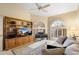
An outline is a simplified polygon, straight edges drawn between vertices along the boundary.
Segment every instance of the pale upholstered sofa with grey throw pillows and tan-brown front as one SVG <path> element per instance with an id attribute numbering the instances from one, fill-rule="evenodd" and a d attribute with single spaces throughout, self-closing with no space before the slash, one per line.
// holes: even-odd
<path id="1" fill-rule="evenodd" d="M 76 40 L 71 37 L 66 38 L 66 40 L 63 37 L 58 38 L 55 41 L 48 40 L 47 45 L 50 45 L 51 47 L 50 48 L 48 47 L 48 49 L 47 48 L 43 49 L 42 52 L 44 55 L 64 55 L 64 54 L 67 55 L 70 54 L 69 52 L 70 50 L 73 50 L 73 48 L 71 47 L 74 44 L 76 44 Z"/>

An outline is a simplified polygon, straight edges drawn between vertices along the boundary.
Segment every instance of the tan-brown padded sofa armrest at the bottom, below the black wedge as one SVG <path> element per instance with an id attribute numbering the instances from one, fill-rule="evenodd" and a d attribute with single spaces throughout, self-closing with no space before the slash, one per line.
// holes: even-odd
<path id="1" fill-rule="evenodd" d="M 43 55 L 63 55 L 65 48 L 43 49 Z"/>

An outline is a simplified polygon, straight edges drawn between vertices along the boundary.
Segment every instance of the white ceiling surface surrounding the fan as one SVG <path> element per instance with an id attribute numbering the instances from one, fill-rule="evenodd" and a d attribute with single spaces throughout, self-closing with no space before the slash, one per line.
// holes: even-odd
<path id="1" fill-rule="evenodd" d="M 38 3 L 41 6 L 44 6 L 48 3 Z M 58 15 L 66 12 L 75 11 L 78 9 L 77 3 L 49 3 L 50 6 L 44 8 L 47 12 L 38 10 L 35 3 L 25 3 L 19 4 L 22 8 L 29 10 L 32 14 L 39 15 L 39 16 L 53 16 Z"/>

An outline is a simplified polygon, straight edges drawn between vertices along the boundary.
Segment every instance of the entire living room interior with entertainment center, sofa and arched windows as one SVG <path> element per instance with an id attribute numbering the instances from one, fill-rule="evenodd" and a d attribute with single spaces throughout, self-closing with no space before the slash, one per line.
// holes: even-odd
<path id="1" fill-rule="evenodd" d="M 0 15 L 0 55 L 79 55 L 78 3 L 0 3 Z"/>

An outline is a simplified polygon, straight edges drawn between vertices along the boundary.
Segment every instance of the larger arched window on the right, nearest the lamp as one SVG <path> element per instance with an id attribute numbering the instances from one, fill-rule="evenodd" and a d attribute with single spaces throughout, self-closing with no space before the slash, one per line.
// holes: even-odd
<path id="1" fill-rule="evenodd" d="M 66 36 L 67 29 L 63 20 L 53 20 L 50 24 L 50 39 Z"/>

